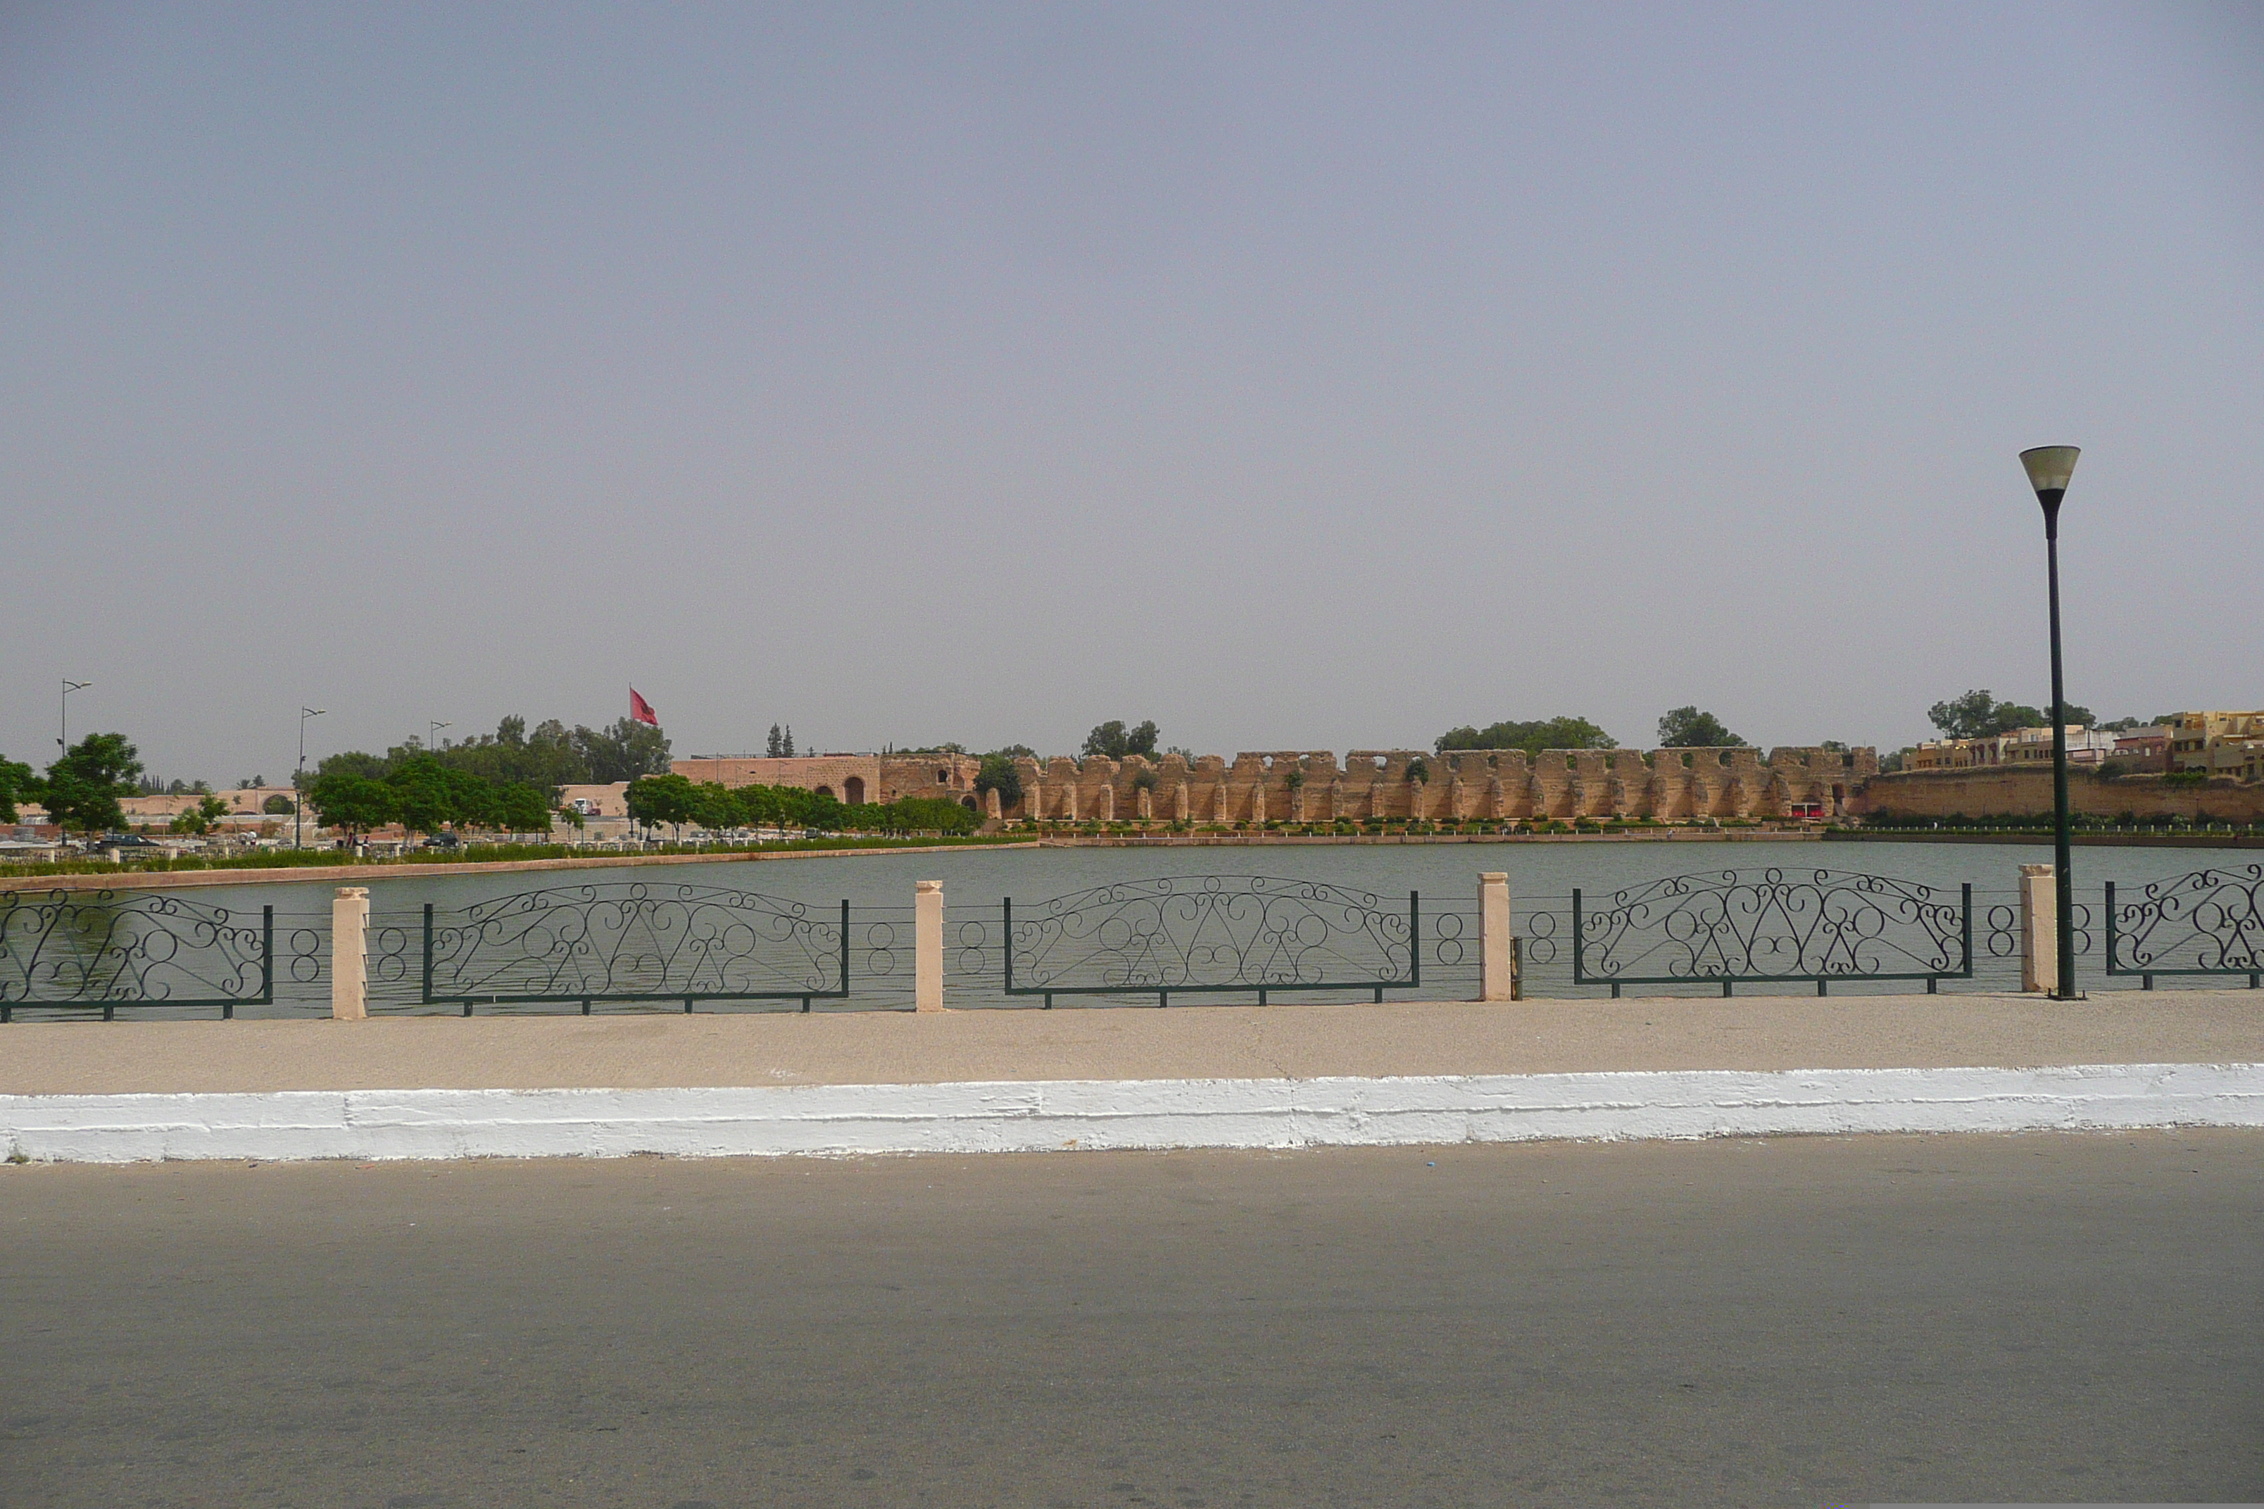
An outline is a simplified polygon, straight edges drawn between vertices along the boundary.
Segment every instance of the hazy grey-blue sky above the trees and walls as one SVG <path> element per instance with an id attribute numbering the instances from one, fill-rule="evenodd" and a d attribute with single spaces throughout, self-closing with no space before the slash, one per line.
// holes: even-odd
<path id="1" fill-rule="evenodd" d="M 2264 7 L 0 7 L 0 753 L 2264 704 Z"/>

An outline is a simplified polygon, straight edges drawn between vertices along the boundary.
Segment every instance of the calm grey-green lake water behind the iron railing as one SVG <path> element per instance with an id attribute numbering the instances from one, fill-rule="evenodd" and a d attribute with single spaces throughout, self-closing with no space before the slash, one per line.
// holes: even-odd
<path id="1" fill-rule="evenodd" d="M 575 887 L 641 885 L 650 896 L 672 896 L 677 887 L 738 889 L 788 898 L 838 919 L 840 903 L 851 907 L 851 1000 L 817 1002 L 815 1009 L 903 1007 L 910 1002 L 910 919 L 912 882 L 944 882 L 944 939 L 949 1004 L 960 1007 L 1028 1007 L 1032 998 L 1007 998 L 1001 991 L 998 952 L 1001 900 L 1012 896 L 1019 919 L 1035 914 L 1039 903 L 1127 880 L 1202 878 L 1202 876 L 1272 876 L 1306 880 L 1349 891 L 1374 894 L 1379 907 L 1406 912 L 1408 891 L 1422 896 L 1424 984 L 1420 991 L 1397 991 L 1408 998 L 1456 998 L 1476 991 L 1476 887 L 1478 873 L 1508 871 L 1517 909 L 1517 932 L 1526 939 L 1528 995 L 1603 995 L 1605 986 L 1576 986 L 1571 975 L 1571 891 L 1578 887 L 1594 914 L 1612 905 L 1621 887 L 1641 887 L 1666 876 L 1718 876 L 1739 871 L 1757 878 L 1777 869 L 1786 880 L 1807 880 L 1818 869 L 1841 873 L 1875 873 L 1897 882 L 1931 887 L 1943 900 L 1956 903 L 1958 887 L 1974 887 L 1974 959 L 1976 977 L 1943 982 L 1945 991 L 2004 991 L 2019 984 L 2017 959 L 2017 878 L 2022 864 L 2051 860 L 2049 844 L 1313 844 L 1313 846 L 1191 846 L 1191 848 L 964 848 L 940 853 L 842 853 L 795 860 L 686 864 L 686 866 L 618 866 L 586 871 L 537 871 L 489 876 L 419 876 L 414 869 L 371 871 L 371 950 L 376 984 L 371 1007 L 378 1011 L 448 1011 L 421 1007 L 417 973 L 421 964 L 421 912 L 426 903 L 444 916 L 475 903 L 491 903 L 534 889 L 573 891 Z M 2076 848 L 2076 900 L 2087 912 L 2078 919 L 2081 984 L 2090 991 L 2135 986 L 2135 980 L 2108 980 L 2103 973 L 2096 925 L 2106 880 L 2137 887 L 2169 880 L 2205 866 L 2255 864 L 2255 851 L 2212 848 Z M 276 907 L 278 1000 L 274 1007 L 245 1007 L 240 1016 L 306 1016 L 328 1009 L 326 932 L 333 885 L 245 885 L 197 887 L 181 891 L 204 907 L 226 907 L 238 919 L 258 919 L 263 905 Z M 1467 948 L 1465 948 L 1467 943 Z M 2241 984 L 2241 982 L 2226 982 Z M 1834 984 L 1834 993 L 1911 991 L 1922 984 Z M 1750 984 L 1739 993 L 1813 993 L 1809 984 Z M 1678 993 L 1637 989 L 1630 993 Z M 1680 993 L 1718 993 L 1718 986 L 1691 986 Z M 1322 1000 L 1322 995 L 1288 993 L 1286 1000 Z M 1347 993 L 1333 993 L 1345 1000 Z M 1060 1004 L 1137 1004 L 1143 998 L 1062 998 Z M 1152 995 L 1146 995 L 1152 1004 Z M 1182 998 L 1193 1000 L 1193 998 Z M 1241 1002 L 1243 995 L 1211 1000 Z M 797 1002 L 763 1002 L 795 1009 Z M 482 1011 L 555 1011 L 559 1007 L 480 1007 Z M 575 1007 L 566 1007 L 575 1009 Z M 607 1009 L 607 1007 L 600 1007 Z M 661 1004 L 611 1009 L 681 1009 Z M 702 1009 L 734 1009 L 715 1002 Z M 20 1011 L 25 1020 L 41 1016 Z M 201 1011 L 199 1016 L 208 1016 Z"/>

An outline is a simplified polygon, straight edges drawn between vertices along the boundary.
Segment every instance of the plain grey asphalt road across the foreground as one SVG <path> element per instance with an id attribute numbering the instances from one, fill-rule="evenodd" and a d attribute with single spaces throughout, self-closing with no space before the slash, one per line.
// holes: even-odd
<path id="1" fill-rule="evenodd" d="M 0 1167 L 0 1502 L 2264 1498 L 2264 1133 Z"/>

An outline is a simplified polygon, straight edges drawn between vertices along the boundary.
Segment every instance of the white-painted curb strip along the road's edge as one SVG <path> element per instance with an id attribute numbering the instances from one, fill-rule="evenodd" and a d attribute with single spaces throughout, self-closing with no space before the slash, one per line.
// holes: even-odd
<path id="1" fill-rule="evenodd" d="M 611 1158 L 2264 1127 L 2264 1063 L 0 1095 L 38 1161 Z"/>

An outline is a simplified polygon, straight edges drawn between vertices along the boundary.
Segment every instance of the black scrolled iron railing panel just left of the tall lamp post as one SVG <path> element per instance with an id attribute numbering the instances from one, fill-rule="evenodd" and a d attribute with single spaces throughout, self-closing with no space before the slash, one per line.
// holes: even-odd
<path id="1" fill-rule="evenodd" d="M 1782 871 L 1671 876 L 1612 891 L 1592 912 L 1571 894 L 1573 984 L 1943 980 L 1974 973 L 1972 885 L 1947 891 L 1886 876 Z"/>

